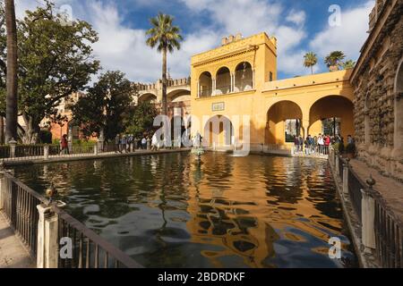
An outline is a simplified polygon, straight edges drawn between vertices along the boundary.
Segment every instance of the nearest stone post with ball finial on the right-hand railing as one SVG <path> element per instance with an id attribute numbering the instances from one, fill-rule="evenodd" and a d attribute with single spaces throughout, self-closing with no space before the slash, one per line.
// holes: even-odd
<path id="1" fill-rule="evenodd" d="M 373 189 L 376 183 L 373 176 L 366 181 L 369 190 Z M 361 189 L 363 198 L 361 200 L 361 217 L 362 217 L 362 238 L 365 253 L 372 253 L 372 249 L 376 248 L 375 240 L 375 200 L 372 197 L 371 191 Z"/>

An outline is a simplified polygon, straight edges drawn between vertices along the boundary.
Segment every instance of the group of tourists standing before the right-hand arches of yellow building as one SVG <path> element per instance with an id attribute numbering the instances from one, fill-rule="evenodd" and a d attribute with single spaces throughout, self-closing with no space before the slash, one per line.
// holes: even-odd
<path id="1" fill-rule="evenodd" d="M 343 142 L 343 138 L 339 135 L 330 137 L 329 135 L 322 135 L 312 137 L 308 135 L 305 139 L 302 136 L 294 138 L 294 146 L 296 154 L 305 155 L 329 155 L 330 145 L 338 142 Z"/>

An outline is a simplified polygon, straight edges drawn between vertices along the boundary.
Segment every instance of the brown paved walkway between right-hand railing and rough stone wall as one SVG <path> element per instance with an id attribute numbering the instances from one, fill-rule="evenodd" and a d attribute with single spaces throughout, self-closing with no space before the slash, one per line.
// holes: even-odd
<path id="1" fill-rule="evenodd" d="M 373 189 L 377 190 L 381 195 L 393 214 L 399 217 L 400 222 L 403 222 L 403 184 L 399 181 L 385 177 L 377 170 L 368 167 L 364 162 L 351 160 L 353 170 L 363 180 L 366 181 L 370 175 L 376 184 Z"/>

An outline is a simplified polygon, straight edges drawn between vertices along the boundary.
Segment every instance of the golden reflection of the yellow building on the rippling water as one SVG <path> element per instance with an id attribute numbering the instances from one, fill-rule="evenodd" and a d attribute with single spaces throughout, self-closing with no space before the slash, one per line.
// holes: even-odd
<path id="1" fill-rule="evenodd" d="M 204 172 L 204 177 L 200 182 L 191 178 L 196 187 L 190 189 L 187 212 L 192 217 L 186 227 L 193 242 L 206 246 L 201 254 L 212 265 L 222 266 L 224 257 L 237 256 L 243 258 L 245 265 L 270 267 L 268 263 L 276 257 L 275 244 L 279 240 L 304 242 L 315 238 L 326 245 L 330 233 L 339 233 L 339 217 L 329 214 L 322 205 L 326 196 L 334 196 L 334 192 L 323 193 L 318 166 L 304 166 L 306 173 L 297 174 L 292 167 L 301 169 L 296 161 L 288 158 L 284 164 L 284 160 L 273 158 L 264 168 L 256 168 L 251 166 L 250 157 L 205 156 L 201 170 L 191 166 L 191 172 Z M 211 168 L 214 164 L 220 168 L 230 164 L 231 169 L 216 176 L 203 170 L 204 165 Z M 256 178 L 246 197 L 245 189 L 240 189 L 244 188 L 245 177 Z M 208 181 L 215 181 L 216 189 L 221 182 L 222 188 L 217 192 Z"/>

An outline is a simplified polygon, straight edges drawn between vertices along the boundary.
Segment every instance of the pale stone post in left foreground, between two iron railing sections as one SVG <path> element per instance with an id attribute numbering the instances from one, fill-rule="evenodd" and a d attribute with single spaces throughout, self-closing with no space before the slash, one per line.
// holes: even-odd
<path id="1" fill-rule="evenodd" d="M 37 268 L 57 268 L 58 216 L 50 206 L 38 205 L 38 254 Z"/>

